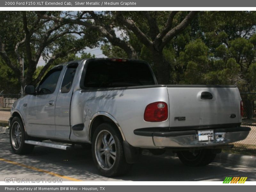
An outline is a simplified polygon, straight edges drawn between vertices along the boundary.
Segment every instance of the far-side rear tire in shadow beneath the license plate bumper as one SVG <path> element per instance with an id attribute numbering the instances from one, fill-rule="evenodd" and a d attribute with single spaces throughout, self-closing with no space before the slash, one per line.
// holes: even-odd
<path id="1" fill-rule="evenodd" d="M 216 154 L 211 149 L 200 149 L 194 152 L 177 151 L 180 161 L 188 166 L 204 166 L 212 163 Z"/>

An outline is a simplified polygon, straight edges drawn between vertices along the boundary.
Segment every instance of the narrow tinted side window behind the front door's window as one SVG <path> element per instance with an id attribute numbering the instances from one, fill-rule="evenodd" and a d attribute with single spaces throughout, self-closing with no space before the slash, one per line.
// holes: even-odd
<path id="1" fill-rule="evenodd" d="M 71 85 L 74 80 L 74 76 L 76 74 L 76 68 L 77 63 L 67 67 L 60 89 L 62 93 L 67 93 L 70 91 Z"/>

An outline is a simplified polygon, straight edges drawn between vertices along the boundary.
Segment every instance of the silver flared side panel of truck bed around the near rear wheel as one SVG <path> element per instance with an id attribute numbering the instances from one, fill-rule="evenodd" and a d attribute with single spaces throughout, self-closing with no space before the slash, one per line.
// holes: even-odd
<path id="1" fill-rule="evenodd" d="M 71 140 L 88 141 L 89 122 L 97 112 L 113 116 L 124 133 L 125 140 L 134 147 L 152 147 L 151 137 L 134 135 L 133 130 L 146 127 L 168 127 L 163 122 L 144 121 L 144 110 L 149 103 L 166 102 L 169 98 L 166 87 L 123 89 L 107 91 L 75 91 L 71 102 L 71 126 L 84 123 L 83 131 L 72 131 Z"/>

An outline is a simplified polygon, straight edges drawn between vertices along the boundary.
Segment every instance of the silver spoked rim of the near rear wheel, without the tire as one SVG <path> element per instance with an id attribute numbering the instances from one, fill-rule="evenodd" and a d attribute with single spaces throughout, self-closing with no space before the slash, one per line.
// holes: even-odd
<path id="1" fill-rule="evenodd" d="M 95 156 L 98 164 L 104 170 L 109 170 L 116 162 L 116 142 L 107 130 L 99 132 L 95 142 Z"/>

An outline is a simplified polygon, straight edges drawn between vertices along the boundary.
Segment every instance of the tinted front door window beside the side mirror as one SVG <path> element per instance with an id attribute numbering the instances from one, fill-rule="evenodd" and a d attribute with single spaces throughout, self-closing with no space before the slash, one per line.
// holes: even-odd
<path id="1" fill-rule="evenodd" d="M 55 91 L 62 68 L 50 70 L 39 84 L 39 94 L 51 94 Z"/>

